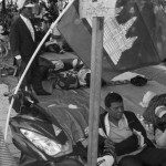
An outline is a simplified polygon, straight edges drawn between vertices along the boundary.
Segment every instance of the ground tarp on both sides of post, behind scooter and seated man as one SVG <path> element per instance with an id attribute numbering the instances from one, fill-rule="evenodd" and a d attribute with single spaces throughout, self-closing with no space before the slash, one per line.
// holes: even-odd
<path id="1" fill-rule="evenodd" d="M 135 86 L 131 83 L 114 86 L 103 86 L 101 90 L 101 113 L 104 111 L 104 98 L 108 92 L 120 93 L 124 98 L 125 110 L 136 114 L 143 114 L 145 108 L 141 106 L 143 96 L 147 91 L 156 94 L 166 93 L 164 85 L 148 81 L 144 86 Z M 53 90 L 50 96 L 38 96 L 40 105 L 62 125 L 69 133 L 73 143 L 84 137 L 84 129 L 89 124 L 90 89 Z"/>

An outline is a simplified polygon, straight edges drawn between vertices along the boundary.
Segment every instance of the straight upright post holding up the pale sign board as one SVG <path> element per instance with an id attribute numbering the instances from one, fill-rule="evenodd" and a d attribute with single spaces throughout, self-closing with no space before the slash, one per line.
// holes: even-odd
<path id="1" fill-rule="evenodd" d="M 91 48 L 91 87 L 89 116 L 87 166 L 96 166 L 98 145 L 98 117 L 101 106 L 101 77 L 103 59 L 104 17 L 94 17 L 92 25 Z"/>

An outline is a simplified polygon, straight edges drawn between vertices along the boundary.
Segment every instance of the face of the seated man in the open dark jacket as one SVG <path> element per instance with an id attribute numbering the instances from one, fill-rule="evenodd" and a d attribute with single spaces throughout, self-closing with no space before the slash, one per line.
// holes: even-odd
<path id="1" fill-rule="evenodd" d="M 114 118 L 115 121 L 120 121 L 122 118 L 124 112 L 123 102 L 114 102 L 111 104 L 111 107 L 107 108 L 108 116 Z"/>

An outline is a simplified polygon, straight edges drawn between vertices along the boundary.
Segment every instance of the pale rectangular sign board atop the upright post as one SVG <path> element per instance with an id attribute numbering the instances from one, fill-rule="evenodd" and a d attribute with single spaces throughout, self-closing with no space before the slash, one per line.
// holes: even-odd
<path id="1" fill-rule="evenodd" d="M 114 17 L 116 0 L 80 0 L 80 17 Z"/>

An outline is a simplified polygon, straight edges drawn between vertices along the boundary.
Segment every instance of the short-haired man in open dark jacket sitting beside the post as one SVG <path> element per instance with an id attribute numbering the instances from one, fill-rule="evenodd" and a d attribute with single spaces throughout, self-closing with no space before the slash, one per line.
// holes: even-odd
<path id="1" fill-rule="evenodd" d="M 110 92 L 105 97 L 106 112 L 100 116 L 100 136 L 110 138 L 118 166 L 165 166 L 166 149 L 156 148 L 146 131 L 131 111 L 124 111 L 123 97 Z"/>

